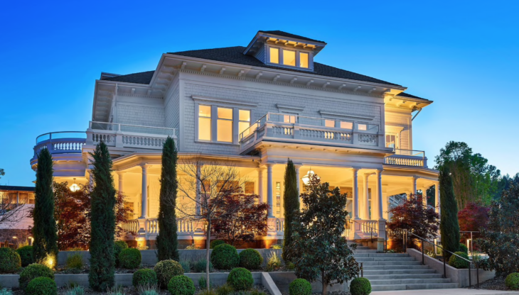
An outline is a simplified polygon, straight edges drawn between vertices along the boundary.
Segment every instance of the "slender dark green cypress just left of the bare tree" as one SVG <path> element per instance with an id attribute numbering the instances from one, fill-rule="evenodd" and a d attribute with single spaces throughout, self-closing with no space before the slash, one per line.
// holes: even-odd
<path id="1" fill-rule="evenodd" d="M 162 149 L 161 194 L 159 196 L 159 235 L 156 245 L 159 261 L 178 261 L 178 241 L 176 237 L 176 147 L 173 138 L 168 137 Z"/>

